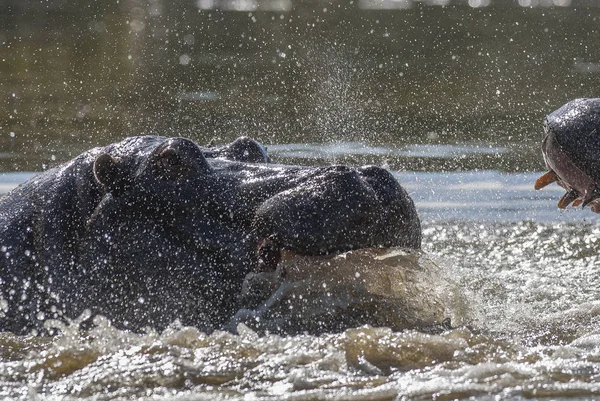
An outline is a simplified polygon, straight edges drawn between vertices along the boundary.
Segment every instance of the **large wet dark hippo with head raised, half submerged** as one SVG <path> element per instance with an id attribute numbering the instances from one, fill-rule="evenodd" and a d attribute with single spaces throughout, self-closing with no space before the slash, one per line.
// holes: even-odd
<path id="1" fill-rule="evenodd" d="M 282 255 L 396 246 L 420 248 L 420 220 L 383 168 L 274 164 L 247 137 L 130 137 L 0 200 L 0 331 L 98 315 L 212 331 L 243 307 L 245 276 Z"/>

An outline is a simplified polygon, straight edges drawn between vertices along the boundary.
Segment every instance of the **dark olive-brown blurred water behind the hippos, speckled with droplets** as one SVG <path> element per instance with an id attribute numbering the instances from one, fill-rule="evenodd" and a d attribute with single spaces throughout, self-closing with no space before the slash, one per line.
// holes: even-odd
<path id="1" fill-rule="evenodd" d="M 544 115 L 600 96 L 599 43 L 595 0 L 0 0 L 0 171 L 140 134 L 538 171 Z"/>

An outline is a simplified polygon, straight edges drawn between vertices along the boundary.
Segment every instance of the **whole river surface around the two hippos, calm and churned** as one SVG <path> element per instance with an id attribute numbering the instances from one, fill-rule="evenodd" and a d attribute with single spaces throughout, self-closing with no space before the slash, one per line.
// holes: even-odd
<path id="1" fill-rule="evenodd" d="M 533 190 L 543 116 L 600 95 L 595 2 L 73 4 L 0 2 L 0 194 L 143 133 L 383 165 L 423 222 L 411 301 L 439 301 L 451 328 L 55 323 L 52 338 L 0 334 L 0 398 L 600 398 L 599 216 Z M 341 266 L 390 268 L 365 257 Z"/>

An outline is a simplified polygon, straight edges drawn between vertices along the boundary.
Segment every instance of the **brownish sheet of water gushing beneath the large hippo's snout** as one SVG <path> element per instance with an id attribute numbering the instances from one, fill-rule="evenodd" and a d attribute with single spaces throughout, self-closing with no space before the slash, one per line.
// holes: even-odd
<path id="1" fill-rule="evenodd" d="M 441 332 L 470 319 L 457 285 L 425 253 L 362 249 L 335 257 L 296 257 L 251 274 L 242 297 L 267 294 L 232 322 L 260 332 L 340 332 L 370 324 Z M 244 304 L 251 302 L 245 301 Z"/>

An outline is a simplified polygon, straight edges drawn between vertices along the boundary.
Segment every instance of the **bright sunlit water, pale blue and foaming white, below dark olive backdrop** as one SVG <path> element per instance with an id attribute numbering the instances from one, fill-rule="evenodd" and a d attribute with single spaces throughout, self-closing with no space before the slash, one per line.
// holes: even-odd
<path id="1" fill-rule="evenodd" d="M 304 145 L 271 150 L 283 162 L 285 152 L 314 162 L 356 153 L 362 145 L 336 146 L 342 150 Z M 469 145 L 429 150 L 449 158 L 480 151 Z M 29 176 L 0 175 L 0 191 Z M 428 276 L 430 288 L 451 288 L 466 301 L 445 305 L 458 316 L 451 330 L 427 334 L 364 326 L 279 336 L 240 325 L 239 335 L 207 335 L 175 324 L 163 333 L 132 334 L 96 319 L 96 327 L 81 333 L 73 322 L 55 338 L 0 335 L 0 397 L 600 397 L 599 219 L 589 210 L 557 210 L 562 191 L 556 186 L 534 191 L 537 176 L 493 170 L 397 173 L 423 220 L 424 255 L 439 268 Z"/>

